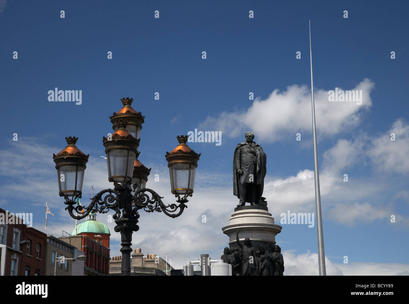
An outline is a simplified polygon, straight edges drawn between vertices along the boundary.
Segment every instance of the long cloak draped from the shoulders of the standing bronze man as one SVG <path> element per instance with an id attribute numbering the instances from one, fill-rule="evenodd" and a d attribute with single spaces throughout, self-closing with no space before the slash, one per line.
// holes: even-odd
<path id="1" fill-rule="evenodd" d="M 257 151 L 256 155 L 256 162 L 257 162 L 257 167 L 256 167 L 256 184 L 260 185 L 260 196 L 263 195 L 263 189 L 264 189 L 264 177 L 265 173 L 267 172 L 266 170 L 266 162 L 267 162 L 267 156 L 265 155 L 263 148 L 256 142 L 253 142 L 254 146 L 253 148 Z M 233 195 L 237 196 L 240 198 L 239 194 L 239 182 L 240 182 L 240 177 L 237 175 L 237 169 L 236 168 L 236 151 L 238 148 L 241 146 L 245 146 L 247 142 L 240 142 L 236 146 L 236 149 L 234 149 L 234 156 L 233 156 Z"/>

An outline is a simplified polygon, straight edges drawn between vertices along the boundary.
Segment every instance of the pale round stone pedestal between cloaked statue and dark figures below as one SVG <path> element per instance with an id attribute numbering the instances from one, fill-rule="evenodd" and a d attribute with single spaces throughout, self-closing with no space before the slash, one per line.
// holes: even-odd
<path id="1" fill-rule="evenodd" d="M 275 236 L 281 232 L 280 225 L 274 224 L 274 218 L 268 212 L 267 206 L 242 206 L 236 207 L 229 219 L 229 225 L 222 228 L 224 234 L 229 236 L 229 247 L 238 247 L 236 244 L 236 232 L 240 243 L 248 237 L 252 242 L 254 250 L 258 250 L 258 245 L 274 247 Z"/>

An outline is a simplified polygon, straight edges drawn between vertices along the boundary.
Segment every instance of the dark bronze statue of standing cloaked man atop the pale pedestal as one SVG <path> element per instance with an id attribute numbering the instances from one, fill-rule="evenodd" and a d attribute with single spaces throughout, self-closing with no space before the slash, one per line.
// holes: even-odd
<path id="1" fill-rule="evenodd" d="M 236 146 L 233 158 L 233 195 L 240 199 L 238 207 L 260 203 L 266 173 L 267 156 L 261 146 L 253 142 L 254 133 L 246 132 L 245 138 L 245 142 Z"/>

